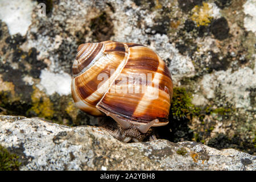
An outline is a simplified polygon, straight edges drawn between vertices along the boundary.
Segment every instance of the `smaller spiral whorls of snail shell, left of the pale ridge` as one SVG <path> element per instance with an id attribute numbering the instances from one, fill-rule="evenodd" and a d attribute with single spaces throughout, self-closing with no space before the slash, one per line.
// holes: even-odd
<path id="1" fill-rule="evenodd" d="M 98 76 L 108 76 L 108 82 L 113 82 L 125 65 L 127 52 L 121 43 L 102 42 L 87 43 L 79 47 L 73 64 L 72 97 L 77 107 L 92 115 L 104 115 L 96 108 L 109 85 L 103 84 Z M 114 74 L 111 74 L 111 69 Z M 108 82 L 107 82 L 108 81 Z"/>

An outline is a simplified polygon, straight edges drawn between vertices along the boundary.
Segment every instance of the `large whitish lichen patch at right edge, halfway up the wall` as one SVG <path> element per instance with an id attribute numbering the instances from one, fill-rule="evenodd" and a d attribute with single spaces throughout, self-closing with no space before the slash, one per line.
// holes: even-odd
<path id="1" fill-rule="evenodd" d="M 232 73 L 218 71 L 205 75 L 201 81 L 201 88 L 206 98 L 215 98 L 216 89 L 227 101 L 236 108 L 252 109 L 250 105 L 250 88 L 256 88 L 256 74 L 251 68 L 245 67 Z M 246 78 L 246 79 L 245 79 Z"/>

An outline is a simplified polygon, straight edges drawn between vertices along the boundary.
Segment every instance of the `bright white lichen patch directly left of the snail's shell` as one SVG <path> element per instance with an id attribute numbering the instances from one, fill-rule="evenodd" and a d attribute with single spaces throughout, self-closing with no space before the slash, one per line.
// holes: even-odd
<path id="1" fill-rule="evenodd" d="M 52 73 L 44 69 L 40 79 L 40 84 L 36 86 L 40 90 L 45 89 L 49 96 L 55 92 L 60 96 L 71 94 L 71 76 L 68 73 Z"/>

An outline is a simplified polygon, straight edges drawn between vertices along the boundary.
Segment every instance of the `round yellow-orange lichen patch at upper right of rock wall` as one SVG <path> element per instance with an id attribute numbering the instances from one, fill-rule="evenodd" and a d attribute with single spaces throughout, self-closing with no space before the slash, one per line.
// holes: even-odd
<path id="1" fill-rule="evenodd" d="M 203 2 L 203 6 L 196 5 L 192 9 L 192 20 L 196 22 L 197 26 L 207 26 L 212 17 L 212 8 L 208 3 Z"/>

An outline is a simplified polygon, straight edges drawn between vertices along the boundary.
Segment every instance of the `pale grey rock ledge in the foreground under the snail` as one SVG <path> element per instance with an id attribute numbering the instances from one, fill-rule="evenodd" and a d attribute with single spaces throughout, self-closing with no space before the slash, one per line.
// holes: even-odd
<path id="1" fill-rule="evenodd" d="M 122 143 L 103 129 L 39 118 L 0 116 L 0 145 L 20 156 L 20 170 L 252 170 L 256 157 L 201 143 Z"/>

